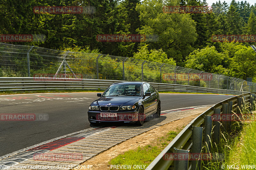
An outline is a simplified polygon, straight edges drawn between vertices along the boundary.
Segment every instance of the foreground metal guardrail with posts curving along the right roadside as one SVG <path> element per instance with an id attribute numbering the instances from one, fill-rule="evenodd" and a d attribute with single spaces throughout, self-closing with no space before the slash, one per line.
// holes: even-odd
<path id="1" fill-rule="evenodd" d="M 201 115 L 191 121 L 166 148 L 151 162 L 146 170 L 201 170 L 201 160 L 189 160 L 188 154 L 202 153 L 202 148 L 209 146 L 206 153 L 211 153 L 211 143 L 218 144 L 220 142 L 220 132 L 228 131 L 231 127 L 231 121 L 216 121 L 216 117 L 232 114 L 240 114 L 241 105 L 250 104 L 252 110 L 253 101 L 255 100 L 254 93 L 246 93 L 236 97 L 229 98 L 217 103 L 213 107 L 206 110 Z M 214 116 L 212 116 L 214 114 Z M 215 119 L 215 121 L 214 121 Z M 212 129 L 213 128 L 213 129 Z M 212 131 L 213 130 L 213 131 Z M 213 132 L 213 133 L 212 133 Z M 175 155 L 176 158 L 181 154 L 185 155 L 186 159 L 175 160 L 170 159 L 170 155 Z M 187 157 L 186 157 L 187 155 Z M 175 158 L 175 156 L 173 156 Z M 184 157 L 183 157 L 184 158 Z"/>

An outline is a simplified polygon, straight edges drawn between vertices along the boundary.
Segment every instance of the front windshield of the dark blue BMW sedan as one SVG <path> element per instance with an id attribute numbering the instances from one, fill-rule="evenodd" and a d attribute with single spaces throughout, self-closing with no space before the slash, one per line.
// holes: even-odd
<path id="1" fill-rule="evenodd" d="M 140 85 L 111 85 L 104 93 L 103 97 L 107 96 L 140 96 Z"/>

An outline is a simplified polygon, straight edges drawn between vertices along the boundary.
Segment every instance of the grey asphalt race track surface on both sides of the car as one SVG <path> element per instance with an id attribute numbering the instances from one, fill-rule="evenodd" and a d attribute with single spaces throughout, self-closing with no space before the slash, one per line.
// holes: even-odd
<path id="1" fill-rule="evenodd" d="M 216 104 L 232 97 L 215 94 L 160 94 L 162 111 Z M 0 156 L 90 128 L 87 111 L 96 93 L 52 93 L 0 96 Z M 31 114 L 10 121 L 6 114 Z"/>

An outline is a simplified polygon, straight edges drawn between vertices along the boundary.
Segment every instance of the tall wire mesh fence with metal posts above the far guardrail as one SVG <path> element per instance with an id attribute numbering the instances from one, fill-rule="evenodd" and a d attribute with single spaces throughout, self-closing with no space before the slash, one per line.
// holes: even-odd
<path id="1" fill-rule="evenodd" d="M 148 81 L 256 91 L 253 82 L 164 63 L 6 43 L 0 43 L 0 77 Z"/>

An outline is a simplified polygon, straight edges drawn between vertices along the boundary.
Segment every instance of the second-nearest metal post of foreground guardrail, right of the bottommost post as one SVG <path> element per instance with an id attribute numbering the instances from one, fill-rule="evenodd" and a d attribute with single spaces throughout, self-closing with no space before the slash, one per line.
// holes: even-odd
<path id="1" fill-rule="evenodd" d="M 203 143 L 203 127 L 193 126 L 193 134 L 192 140 L 193 144 L 191 146 L 192 154 L 196 153 L 201 155 L 202 143 Z M 200 160 L 192 160 L 191 166 L 193 170 L 201 170 L 201 159 Z"/>

